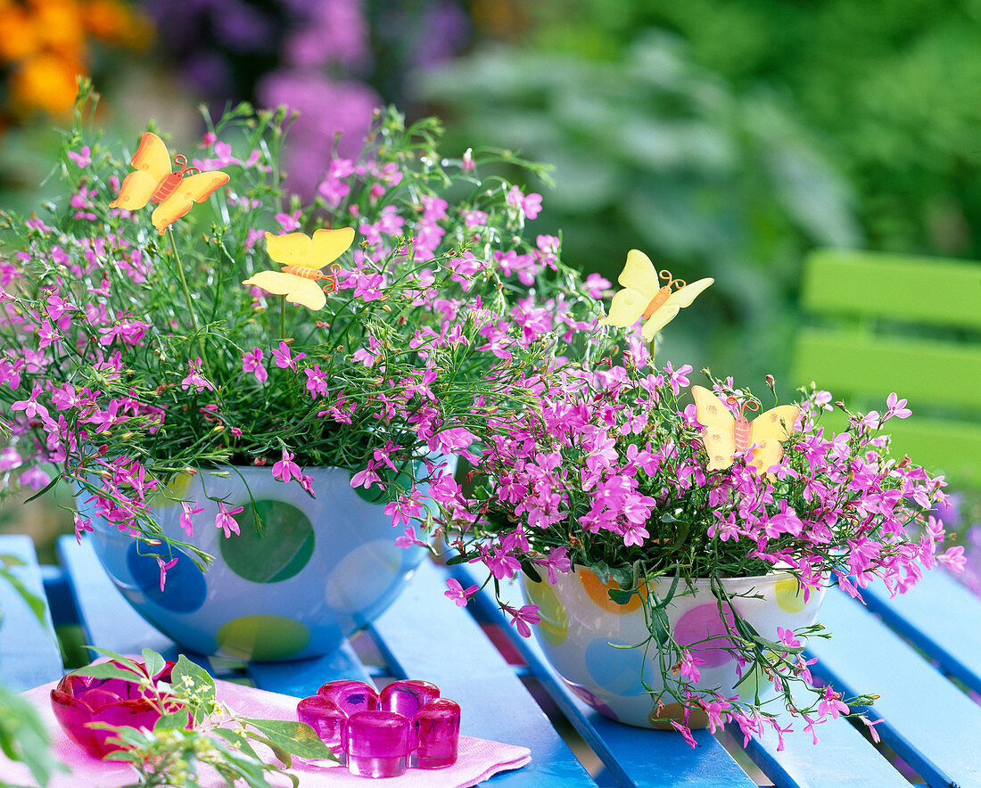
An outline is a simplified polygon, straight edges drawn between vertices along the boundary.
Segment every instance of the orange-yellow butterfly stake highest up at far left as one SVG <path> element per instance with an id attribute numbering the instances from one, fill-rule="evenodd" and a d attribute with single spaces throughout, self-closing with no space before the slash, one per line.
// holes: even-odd
<path id="1" fill-rule="evenodd" d="M 225 172 L 201 172 L 188 167 L 185 156 L 175 156 L 174 163 L 181 169 L 171 172 L 167 146 L 160 137 L 147 131 L 140 137 L 139 147 L 129 163 L 133 170 L 123 181 L 119 197 L 109 207 L 137 211 L 149 202 L 156 204 L 150 221 L 163 235 L 194 203 L 203 203 L 229 182 Z"/>

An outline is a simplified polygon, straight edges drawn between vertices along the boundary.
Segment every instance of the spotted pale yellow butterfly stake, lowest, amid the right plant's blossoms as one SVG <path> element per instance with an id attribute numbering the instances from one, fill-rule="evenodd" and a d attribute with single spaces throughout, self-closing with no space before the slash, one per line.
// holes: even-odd
<path id="1" fill-rule="evenodd" d="M 726 403 L 703 386 L 692 386 L 698 423 L 705 427 L 701 442 L 708 452 L 708 469 L 721 470 L 733 464 L 733 454 L 755 445 L 749 466 L 756 472 L 777 465 L 784 456 L 782 441 L 794 432 L 800 417 L 795 405 L 779 405 L 760 414 L 752 421 L 746 411 L 758 411 L 759 405 L 752 400 L 742 404 L 735 397 L 727 398 L 730 405 L 739 405 L 739 416 L 733 417 Z"/>

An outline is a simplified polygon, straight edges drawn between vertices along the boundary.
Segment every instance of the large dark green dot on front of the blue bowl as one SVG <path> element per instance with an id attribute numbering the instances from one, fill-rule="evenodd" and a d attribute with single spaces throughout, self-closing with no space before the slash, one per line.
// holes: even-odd
<path id="1" fill-rule="evenodd" d="M 239 577 L 254 583 L 277 583 L 292 577 L 313 556 L 314 531 L 309 517 L 283 501 L 256 501 L 262 522 L 250 505 L 238 517 L 241 533 L 219 542 L 222 558 Z"/>

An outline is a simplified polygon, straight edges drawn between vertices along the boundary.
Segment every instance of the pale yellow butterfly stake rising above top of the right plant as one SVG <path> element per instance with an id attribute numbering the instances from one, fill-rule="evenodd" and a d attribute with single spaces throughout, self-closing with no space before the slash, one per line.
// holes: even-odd
<path id="1" fill-rule="evenodd" d="M 661 279 L 666 281 L 663 286 Z M 655 333 L 674 320 L 682 307 L 691 306 L 715 279 L 698 279 L 686 284 L 684 279 L 674 278 L 670 271 L 656 271 L 644 252 L 631 249 L 617 281 L 623 289 L 613 296 L 610 314 L 599 324 L 626 328 L 643 318 L 644 338 L 649 342 Z"/>

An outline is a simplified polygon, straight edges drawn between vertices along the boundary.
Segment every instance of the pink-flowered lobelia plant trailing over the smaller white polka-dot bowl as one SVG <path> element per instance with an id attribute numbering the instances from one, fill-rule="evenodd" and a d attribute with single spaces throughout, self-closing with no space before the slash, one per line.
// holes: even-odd
<path id="1" fill-rule="evenodd" d="M 882 427 L 909 416 L 895 394 L 883 413 L 850 413 L 848 430 L 833 435 L 820 423 L 831 395 L 811 384 L 801 389 L 800 419 L 795 408 L 769 412 L 789 414 L 782 450 L 760 429 L 750 445 L 726 451 L 719 433 L 735 423 L 740 406 L 755 410 L 758 400 L 735 389 L 732 378 L 720 381 L 704 370 L 726 400 L 719 407 L 732 409 L 706 429 L 698 421 L 701 405 L 685 392 L 692 368 L 654 369 L 639 339 L 631 337 L 632 350 L 620 362 L 607 357 L 530 378 L 535 407 L 486 441 L 471 472 L 472 489 L 439 485 L 440 513 L 432 527 L 454 554 L 448 563 L 486 568 L 484 585 L 526 637 L 538 624 L 540 631 L 551 627 L 540 638 L 547 639 L 557 624 L 554 611 L 507 601 L 504 582 L 519 572 L 532 583 L 547 577 L 554 584 L 574 569 L 591 570 L 607 606 L 643 608 L 646 637 L 620 648 L 644 652 L 639 678 L 649 714 L 672 707 L 670 724 L 692 746 L 693 714 L 713 731 L 735 723 L 748 742 L 769 728 L 780 737 L 791 730 L 786 715 L 777 715 L 785 709 L 816 741 L 826 718 L 860 716 L 851 707 L 870 705 L 874 696 L 844 701 L 832 687 L 815 684 L 802 643 L 828 636 L 823 627 L 761 633 L 738 610 L 740 594 L 727 592 L 725 580 L 789 572 L 802 606 L 829 579 L 859 597 L 875 578 L 895 594 L 938 562 L 962 568 L 962 548 L 939 551 L 945 529 L 930 514 L 946 499 L 945 482 L 908 458 L 890 457 Z M 773 389 L 772 378 L 767 382 Z M 715 402 L 712 392 L 695 389 L 697 400 Z M 763 451 L 767 445 L 772 454 Z M 761 464 L 757 457 L 764 455 L 772 462 Z M 668 611 L 694 593 L 688 589 L 700 578 L 707 579 L 725 624 L 717 636 L 703 632 L 691 642 L 672 628 Z M 447 582 L 446 596 L 461 606 L 480 590 L 478 583 Z M 543 620 L 546 613 L 553 617 Z M 699 665 L 717 664 L 720 650 L 741 682 L 750 682 L 744 685 L 749 692 L 727 694 L 697 683 Z M 767 684 L 775 690 L 772 698 L 758 687 Z M 582 695 L 599 708 L 600 699 Z"/>

